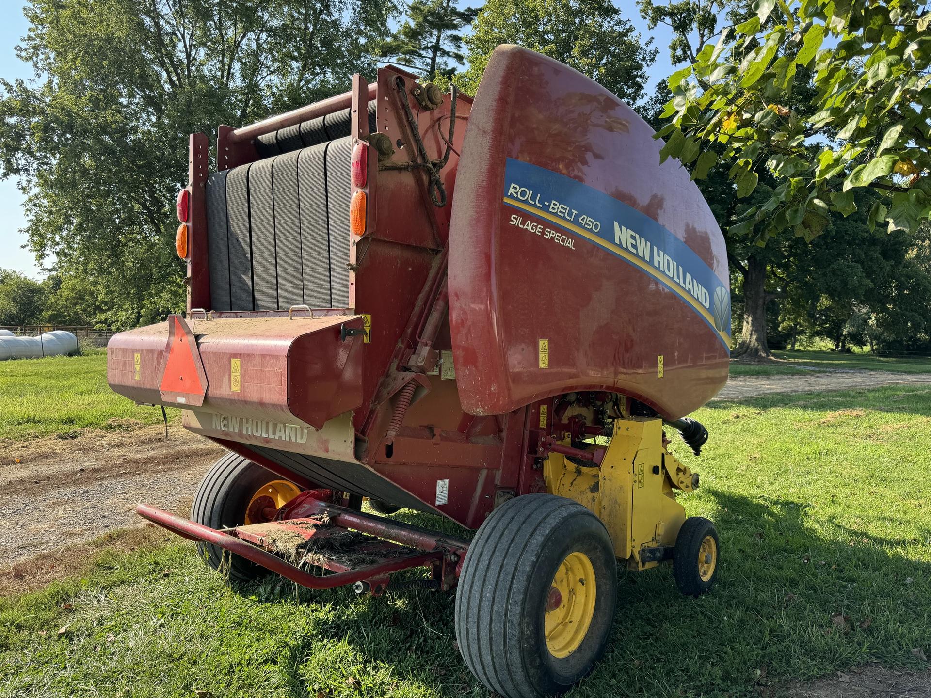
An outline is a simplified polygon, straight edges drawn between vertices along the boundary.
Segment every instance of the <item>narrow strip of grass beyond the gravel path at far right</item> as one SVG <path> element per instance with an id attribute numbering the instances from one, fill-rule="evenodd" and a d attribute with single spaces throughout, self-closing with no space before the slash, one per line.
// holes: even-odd
<path id="1" fill-rule="evenodd" d="M 889 358 L 838 352 L 773 352 L 778 362 L 745 364 L 731 362 L 732 376 L 802 375 L 828 370 L 886 370 L 896 373 L 931 373 L 931 358 Z"/>

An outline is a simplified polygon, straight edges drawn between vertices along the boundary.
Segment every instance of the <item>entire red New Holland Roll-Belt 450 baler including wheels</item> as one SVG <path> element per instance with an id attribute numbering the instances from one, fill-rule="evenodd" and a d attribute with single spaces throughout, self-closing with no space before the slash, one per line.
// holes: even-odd
<path id="1" fill-rule="evenodd" d="M 267 568 L 377 595 L 425 568 L 417 584 L 456 587 L 458 646 L 490 690 L 571 687 L 604 651 L 618 562 L 671 560 L 690 595 L 718 569 L 664 426 L 696 453 L 708 437 L 685 415 L 727 378 L 726 254 L 660 144 L 520 47 L 494 51 L 474 101 L 388 66 L 220 127 L 215 164 L 192 135 L 188 311 L 115 335 L 108 380 L 229 453 L 190 520 L 138 512 L 236 582 Z"/>

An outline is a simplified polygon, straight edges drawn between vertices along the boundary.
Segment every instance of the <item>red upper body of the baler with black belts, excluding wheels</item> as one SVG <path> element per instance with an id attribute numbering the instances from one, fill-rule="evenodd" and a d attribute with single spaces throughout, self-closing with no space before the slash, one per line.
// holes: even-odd
<path id="1" fill-rule="evenodd" d="M 660 165 L 650 128 L 585 76 L 499 48 L 474 103 L 458 97 L 452 141 L 449 97 L 420 109 L 412 88 L 388 67 L 347 95 L 221 127 L 215 174 L 193 135 L 188 314 L 117 334 L 108 380 L 304 488 L 478 528 L 496 503 L 545 491 L 534 461 L 558 396 L 622 394 L 675 419 L 720 390 L 727 262 L 685 169 Z M 405 101 L 428 159 L 449 147 L 445 206 Z M 336 114 L 351 128 L 328 126 Z M 368 146 L 364 187 L 336 177 L 374 131 L 394 154 Z M 311 245 L 317 190 L 325 249 Z M 350 235 L 341 211 L 358 191 L 366 230 Z"/>

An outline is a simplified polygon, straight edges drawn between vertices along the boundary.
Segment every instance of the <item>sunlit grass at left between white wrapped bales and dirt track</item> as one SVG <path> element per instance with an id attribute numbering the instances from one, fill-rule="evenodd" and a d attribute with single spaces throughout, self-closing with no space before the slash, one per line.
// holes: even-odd
<path id="1" fill-rule="evenodd" d="M 172 419 L 179 413 L 169 409 Z M 74 435 L 83 428 L 120 429 L 161 421 L 160 409 L 138 407 L 107 386 L 103 350 L 0 361 L 0 437 L 21 441 Z"/>

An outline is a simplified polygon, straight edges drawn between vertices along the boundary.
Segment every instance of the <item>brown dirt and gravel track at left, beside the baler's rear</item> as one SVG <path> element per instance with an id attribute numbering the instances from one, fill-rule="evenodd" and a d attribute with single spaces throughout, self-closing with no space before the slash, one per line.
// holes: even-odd
<path id="1" fill-rule="evenodd" d="M 139 502 L 187 514 L 222 453 L 180 424 L 0 444 L 0 565 L 138 525 Z"/>

